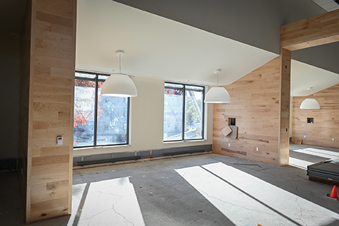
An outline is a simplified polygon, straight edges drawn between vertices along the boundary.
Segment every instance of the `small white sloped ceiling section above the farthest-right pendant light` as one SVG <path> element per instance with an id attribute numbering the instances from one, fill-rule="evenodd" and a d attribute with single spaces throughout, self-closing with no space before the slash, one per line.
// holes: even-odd
<path id="1" fill-rule="evenodd" d="M 339 83 L 339 75 L 292 60 L 291 96 L 307 96 Z M 313 87 L 312 90 L 307 88 Z"/>

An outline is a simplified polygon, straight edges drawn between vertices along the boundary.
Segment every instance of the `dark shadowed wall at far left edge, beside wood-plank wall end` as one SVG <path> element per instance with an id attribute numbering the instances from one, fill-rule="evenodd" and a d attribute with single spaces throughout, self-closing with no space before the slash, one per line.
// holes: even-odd
<path id="1" fill-rule="evenodd" d="M 0 158 L 18 157 L 20 32 L 27 0 L 0 1 Z"/>

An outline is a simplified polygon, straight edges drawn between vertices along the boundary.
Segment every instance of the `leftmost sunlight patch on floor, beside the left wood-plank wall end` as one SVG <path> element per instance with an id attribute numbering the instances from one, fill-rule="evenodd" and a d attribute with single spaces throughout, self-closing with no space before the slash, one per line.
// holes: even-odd
<path id="1" fill-rule="evenodd" d="M 129 177 L 73 185 L 72 201 L 68 226 L 145 226 Z"/>

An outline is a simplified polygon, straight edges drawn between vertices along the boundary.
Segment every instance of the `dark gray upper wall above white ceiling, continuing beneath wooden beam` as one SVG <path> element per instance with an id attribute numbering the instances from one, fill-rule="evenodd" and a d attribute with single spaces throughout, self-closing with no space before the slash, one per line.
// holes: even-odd
<path id="1" fill-rule="evenodd" d="M 280 52 L 281 25 L 326 13 L 311 0 L 116 1 L 276 54 Z M 333 49 L 338 47 L 339 43 L 333 44 Z M 339 58 L 333 49 L 300 50 L 292 58 L 339 73 Z"/>

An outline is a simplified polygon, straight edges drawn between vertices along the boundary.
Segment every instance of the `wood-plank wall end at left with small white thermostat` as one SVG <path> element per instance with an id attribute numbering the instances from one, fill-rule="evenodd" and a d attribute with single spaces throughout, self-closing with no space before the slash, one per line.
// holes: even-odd
<path id="1" fill-rule="evenodd" d="M 76 0 L 32 0 L 26 222 L 71 214 Z M 29 10 L 29 9 L 28 9 Z M 29 27 L 29 26 L 28 26 Z M 28 70 L 25 70 L 27 76 Z M 25 102 L 27 103 L 27 102 Z M 23 106 L 25 107 L 25 106 Z M 57 145 L 63 136 L 63 145 Z"/>

